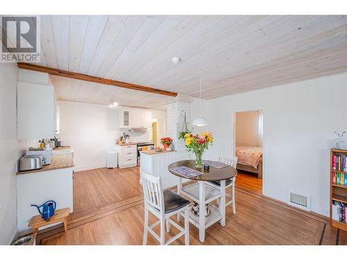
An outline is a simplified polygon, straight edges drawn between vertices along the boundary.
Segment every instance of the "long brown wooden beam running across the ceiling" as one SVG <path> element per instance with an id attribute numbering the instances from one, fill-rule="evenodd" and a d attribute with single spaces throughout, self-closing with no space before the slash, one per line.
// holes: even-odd
<path id="1" fill-rule="evenodd" d="M 155 89 L 153 87 L 146 87 L 146 86 L 136 85 L 133 83 L 126 83 L 126 82 L 122 82 L 118 80 L 110 80 L 108 78 L 99 78 L 99 77 L 89 76 L 89 75 L 85 75 L 85 74 L 81 74 L 77 72 L 63 71 L 61 69 L 53 69 L 53 68 L 44 67 L 44 66 L 40 66 L 36 64 L 31 64 L 31 63 L 18 62 L 17 65 L 20 69 L 39 71 L 39 72 L 49 73 L 50 75 L 55 75 L 55 76 L 60 76 L 65 78 L 74 78 L 76 80 L 85 80 L 85 81 L 89 81 L 93 83 L 111 85 L 114 87 L 124 87 L 126 89 L 133 89 L 137 91 L 155 93 L 155 94 L 160 94 L 165 96 L 177 96 L 177 93 L 175 92 L 168 92 L 162 89 Z"/>

